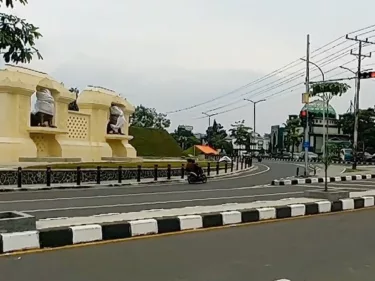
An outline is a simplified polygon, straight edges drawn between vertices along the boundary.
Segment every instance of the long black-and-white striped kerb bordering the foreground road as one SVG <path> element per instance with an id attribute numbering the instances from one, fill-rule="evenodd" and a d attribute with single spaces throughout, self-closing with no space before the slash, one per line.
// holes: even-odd
<path id="1" fill-rule="evenodd" d="M 0 253 L 10 253 L 27 249 L 56 248 L 94 241 L 125 239 L 142 235 L 173 233 L 226 225 L 235 226 L 243 223 L 340 212 L 371 206 L 374 206 L 374 197 L 365 196 L 341 199 L 335 202 L 323 200 L 314 203 L 226 211 L 222 213 L 3 233 L 0 234 Z"/>

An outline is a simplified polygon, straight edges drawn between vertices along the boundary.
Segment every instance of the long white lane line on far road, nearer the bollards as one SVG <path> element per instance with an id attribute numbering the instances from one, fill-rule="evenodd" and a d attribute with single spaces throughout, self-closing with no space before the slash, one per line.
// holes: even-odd
<path id="1" fill-rule="evenodd" d="M 274 188 L 273 186 L 245 186 L 234 188 L 216 188 L 216 189 L 198 189 L 198 190 L 176 190 L 176 191 L 156 191 L 144 193 L 128 193 L 128 194 L 112 194 L 112 195 L 97 195 L 97 196 L 80 196 L 80 197 L 57 197 L 57 198 L 40 198 L 40 199 L 24 199 L 12 201 L 0 201 L 0 204 L 14 204 L 14 203 L 31 203 L 31 202 L 51 202 L 64 200 L 87 200 L 87 199 L 101 199 L 101 198 L 119 198 L 119 197 L 136 197 L 136 196 L 152 196 L 152 195 L 171 195 L 171 194 L 189 194 L 189 193 L 204 193 L 204 192 L 218 192 L 218 191 L 238 191 L 246 189 L 260 189 L 260 188 Z"/>

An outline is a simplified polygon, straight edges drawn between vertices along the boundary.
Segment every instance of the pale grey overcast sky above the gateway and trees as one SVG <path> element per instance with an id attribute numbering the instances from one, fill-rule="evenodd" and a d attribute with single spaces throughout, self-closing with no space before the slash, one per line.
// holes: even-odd
<path id="1" fill-rule="evenodd" d="M 13 13 L 39 26 L 44 36 L 38 41 L 44 60 L 28 67 L 48 72 L 67 87 L 101 85 L 122 93 L 135 105 L 168 112 L 229 93 L 304 56 L 307 33 L 314 50 L 375 24 L 374 10 L 375 2 L 370 0 L 362 0 L 361 5 L 349 0 L 30 0 L 26 7 L 17 3 Z M 354 59 L 347 52 L 323 70 Z M 374 58 L 363 62 L 372 63 L 375 67 Z M 355 62 L 346 66 L 354 69 Z M 271 125 L 285 122 L 288 114 L 298 114 L 303 77 L 263 93 L 257 88 L 303 67 L 301 62 L 278 77 L 171 114 L 172 128 L 186 124 L 204 132 L 208 120 L 197 119 L 202 111 L 222 107 L 213 111 L 221 112 L 241 106 L 244 97 L 257 100 L 275 94 L 257 107 L 257 131 L 268 133 Z M 312 71 L 312 76 L 319 75 Z M 326 76 L 337 78 L 340 72 Z M 277 93 L 296 82 L 301 85 L 294 91 Z M 361 107 L 375 104 L 374 88 L 375 82 L 363 81 Z M 348 109 L 353 89 L 332 101 L 338 113 Z M 243 95 L 247 92 L 251 93 Z M 226 128 L 241 119 L 252 126 L 253 109 L 249 104 L 215 118 Z"/>

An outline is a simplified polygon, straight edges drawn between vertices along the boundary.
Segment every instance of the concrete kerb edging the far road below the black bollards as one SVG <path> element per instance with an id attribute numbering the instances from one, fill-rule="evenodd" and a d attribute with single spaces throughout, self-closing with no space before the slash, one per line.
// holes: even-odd
<path id="1" fill-rule="evenodd" d="M 228 173 L 221 173 L 219 175 L 211 175 L 208 176 L 209 179 L 214 179 L 214 178 L 224 178 L 228 176 L 234 176 L 237 174 L 241 174 L 244 172 L 250 172 L 250 171 L 255 171 L 257 170 L 257 166 L 251 166 L 246 169 L 234 171 L 234 172 L 228 172 Z M 109 182 L 103 182 L 101 184 L 96 184 L 96 183 L 82 183 L 81 185 L 76 185 L 74 183 L 72 184 L 56 184 L 52 186 L 29 186 L 29 187 L 1 187 L 0 192 L 14 192 L 14 191 L 35 191 L 35 190 L 52 190 L 52 189 L 86 189 L 86 188 L 95 188 L 95 187 L 126 187 L 126 186 L 136 186 L 136 185 L 153 185 L 153 184 L 166 184 L 166 183 L 185 183 L 187 182 L 186 177 L 184 179 L 178 178 L 178 179 L 160 179 L 157 181 L 154 180 L 148 180 L 144 179 L 146 181 L 141 181 L 141 182 L 123 182 L 123 183 L 109 183 Z"/>

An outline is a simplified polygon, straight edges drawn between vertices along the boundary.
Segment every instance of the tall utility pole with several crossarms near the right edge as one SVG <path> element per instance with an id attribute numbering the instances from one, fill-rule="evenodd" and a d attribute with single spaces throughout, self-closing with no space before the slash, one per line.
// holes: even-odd
<path id="1" fill-rule="evenodd" d="M 346 35 L 346 39 L 358 42 L 358 54 L 353 53 L 353 50 L 350 50 L 350 54 L 358 57 L 358 68 L 357 68 L 357 79 L 356 79 L 356 93 L 354 98 L 354 134 L 353 134 L 353 169 L 357 169 L 357 148 L 358 148 L 358 115 L 359 115 L 359 92 L 361 89 L 361 62 L 362 58 L 370 58 L 369 55 L 362 54 L 363 44 L 375 44 L 374 42 L 368 41 L 368 38 L 365 40 L 358 39 L 358 37 L 350 38 L 349 35 Z"/>

